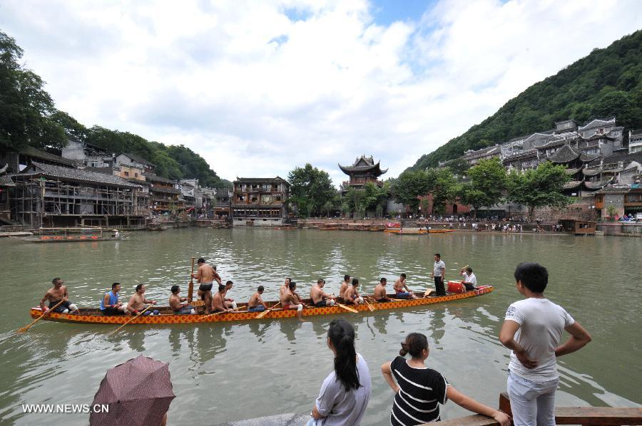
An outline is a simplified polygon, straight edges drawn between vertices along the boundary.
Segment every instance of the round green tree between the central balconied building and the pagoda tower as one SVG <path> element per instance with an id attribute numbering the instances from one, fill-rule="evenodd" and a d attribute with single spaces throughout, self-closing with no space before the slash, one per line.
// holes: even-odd
<path id="1" fill-rule="evenodd" d="M 321 214 L 323 206 L 331 201 L 337 192 L 332 186 L 330 175 L 307 163 L 304 167 L 295 167 L 287 174 L 290 182 L 290 200 L 297 207 L 302 217 Z"/>

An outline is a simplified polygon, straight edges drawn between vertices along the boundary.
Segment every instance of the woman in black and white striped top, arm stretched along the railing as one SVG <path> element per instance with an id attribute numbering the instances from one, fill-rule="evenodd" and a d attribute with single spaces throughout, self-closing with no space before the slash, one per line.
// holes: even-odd
<path id="1" fill-rule="evenodd" d="M 467 397 L 453 388 L 443 375 L 426 366 L 428 339 L 422 333 L 410 333 L 401 345 L 401 356 L 381 366 L 384 379 L 394 390 L 390 412 L 392 425 L 438 422 L 441 420 L 439 404 L 445 404 L 449 399 L 467 410 L 494 418 L 501 426 L 511 425 L 511 418 L 504 412 Z M 409 360 L 404 358 L 408 353 Z"/>

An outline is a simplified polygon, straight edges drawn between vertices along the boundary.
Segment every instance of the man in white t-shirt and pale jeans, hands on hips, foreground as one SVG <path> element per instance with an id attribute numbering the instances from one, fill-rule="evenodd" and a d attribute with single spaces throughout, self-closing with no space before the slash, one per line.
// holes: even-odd
<path id="1" fill-rule="evenodd" d="M 506 311 L 499 341 L 512 350 L 508 393 L 513 421 L 521 425 L 555 425 L 556 358 L 579 350 L 591 336 L 564 308 L 544 297 L 549 273 L 523 263 L 515 269 L 517 291 L 526 296 Z M 560 346 L 562 332 L 571 335 Z"/>

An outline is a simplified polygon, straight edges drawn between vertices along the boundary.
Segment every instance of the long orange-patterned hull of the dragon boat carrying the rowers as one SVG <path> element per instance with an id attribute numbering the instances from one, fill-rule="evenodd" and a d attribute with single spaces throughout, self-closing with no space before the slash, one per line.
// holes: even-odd
<path id="1" fill-rule="evenodd" d="M 468 291 L 467 293 L 449 293 L 446 296 L 429 296 L 425 298 L 416 298 L 411 300 L 399 300 L 399 301 L 390 301 L 383 303 L 370 303 L 374 307 L 375 311 L 386 311 L 397 308 L 407 308 L 411 306 L 423 306 L 423 305 L 432 305 L 434 303 L 444 303 L 449 301 L 457 301 L 464 298 L 472 298 L 481 296 L 486 293 L 493 291 L 493 286 L 480 286 L 479 289 L 474 291 Z M 388 295 L 390 298 L 394 298 L 393 294 Z M 276 302 L 267 302 L 268 306 L 273 306 Z M 247 303 L 239 303 L 238 306 L 247 306 Z M 346 315 L 360 315 L 363 312 L 369 313 L 368 306 L 363 305 L 350 305 L 351 308 L 359 311 L 358 313 L 352 313 L 345 311 L 345 309 L 340 306 L 330 306 L 323 308 L 312 308 L 307 307 L 303 309 L 303 316 L 317 316 L 317 315 L 332 315 L 335 313 L 344 313 Z M 205 315 L 205 314 L 193 314 L 193 315 L 176 315 L 170 311 L 169 307 L 159 307 L 156 308 L 161 312 L 160 315 L 150 315 L 150 316 L 141 316 L 131 321 L 130 324 L 185 324 L 185 323 L 217 323 L 220 321 L 252 321 L 256 319 L 258 312 L 248 312 L 248 311 L 235 311 L 228 313 L 221 313 L 218 315 Z M 40 308 L 31 308 L 31 318 L 39 318 L 42 315 Z M 294 318 L 297 315 L 297 311 L 288 309 L 284 310 L 282 308 L 275 308 L 273 311 L 268 312 L 263 318 L 272 319 L 272 318 Z M 131 320 L 131 316 L 125 315 L 116 315 L 108 316 L 103 315 L 101 311 L 97 308 L 80 308 L 80 313 L 71 314 L 71 313 L 50 313 L 48 316 L 43 318 L 47 321 L 57 321 L 61 323 L 81 323 L 81 324 L 123 324 Z"/>

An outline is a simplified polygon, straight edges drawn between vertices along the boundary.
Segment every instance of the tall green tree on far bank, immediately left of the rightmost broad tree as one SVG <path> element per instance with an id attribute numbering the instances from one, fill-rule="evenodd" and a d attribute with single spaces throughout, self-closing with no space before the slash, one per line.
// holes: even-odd
<path id="1" fill-rule="evenodd" d="M 461 200 L 473 207 L 477 217 L 480 207 L 491 207 L 499 203 L 506 189 L 506 169 L 499 158 L 480 160 L 468 171 L 469 181 L 462 185 Z"/>

